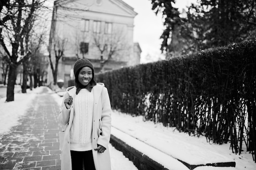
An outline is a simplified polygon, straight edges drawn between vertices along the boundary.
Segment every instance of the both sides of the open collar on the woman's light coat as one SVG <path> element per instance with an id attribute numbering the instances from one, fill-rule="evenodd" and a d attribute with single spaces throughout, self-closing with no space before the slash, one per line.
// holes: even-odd
<path id="1" fill-rule="evenodd" d="M 102 91 L 102 88 L 104 87 L 105 85 L 103 83 L 97 83 L 96 86 L 94 86 L 92 88 L 92 92 L 93 92 L 93 97 L 94 97 L 94 101 L 98 101 L 99 100 L 99 97 L 101 95 L 101 91 Z M 75 86 L 71 86 L 71 87 L 68 87 L 67 88 L 67 93 L 73 97 L 76 97 L 76 87 Z"/>

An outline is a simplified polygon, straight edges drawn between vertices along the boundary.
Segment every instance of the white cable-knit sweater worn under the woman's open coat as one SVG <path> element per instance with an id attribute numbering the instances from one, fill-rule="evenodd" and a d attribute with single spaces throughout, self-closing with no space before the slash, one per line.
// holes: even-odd
<path id="1" fill-rule="evenodd" d="M 74 119 L 70 129 L 70 150 L 92 150 L 93 93 L 83 88 L 73 102 Z"/>

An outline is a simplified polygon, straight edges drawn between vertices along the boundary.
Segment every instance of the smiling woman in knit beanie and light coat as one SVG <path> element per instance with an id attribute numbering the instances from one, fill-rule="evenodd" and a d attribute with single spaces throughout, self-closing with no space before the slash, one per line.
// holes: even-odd
<path id="1" fill-rule="evenodd" d="M 87 59 L 75 62 L 74 75 L 75 86 L 67 88 L 58 116 L 66 125 L 61 170 L 111 170 L 108 90 L 94 81 L 94 67 Z"/>

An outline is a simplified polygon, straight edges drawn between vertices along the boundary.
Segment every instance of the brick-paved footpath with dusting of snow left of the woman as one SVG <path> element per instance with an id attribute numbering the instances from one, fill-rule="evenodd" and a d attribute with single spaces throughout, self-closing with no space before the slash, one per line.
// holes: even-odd
<path id="1" fill-rule="evenodd" d="M 44 92 L 46 88 L 36 95 L 19 125 L 0 136 L 0 170 L 61 169 L 58 132 L 63 127 L 58 123 L 59 106 Z"/>

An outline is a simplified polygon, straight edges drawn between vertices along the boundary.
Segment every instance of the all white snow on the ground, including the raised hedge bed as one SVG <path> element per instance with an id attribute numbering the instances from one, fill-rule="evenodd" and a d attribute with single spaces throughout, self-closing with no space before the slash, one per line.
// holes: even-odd
<path id="1" fill-rule="evenodd" d="M 42 88 L 38 87 L 33 91 L 27 90 L 27 94 L 17 93 L 15 94 L 14 102 L 4 102 L 5 97 L 0 99 L 0 120 L 2 125 L 0 133 L 6 133 L 12 126 L 18 124 L 18 119 L 25 114 L 31 100 Z M 60 105 L 63 99 L 61 97 L 63 92 L 51 95 Z M 256 169 L 256 163 L 254 163 L 249 152 L 243 151 L 241 155 L 236 155 L 229 149 L 229 144 L 212 144 L 207 142 L 203 136 L 189 136 L 186 133 L 178 132 L 175 128 L 154 124 L 152 121 L 144 121 L 142 116 L 132 117 L 113 110 L 111 133 L 169 170 L 189 169 L 177 159 L 193 165 L 226 161 L 236 162 L 235 168 L 199 166 L 194 170 Z M 124 157 L 122 152 L 116 150 L 111 144 L 109 147 L 113 170 L 137 170 L 133 163 Z"/>

